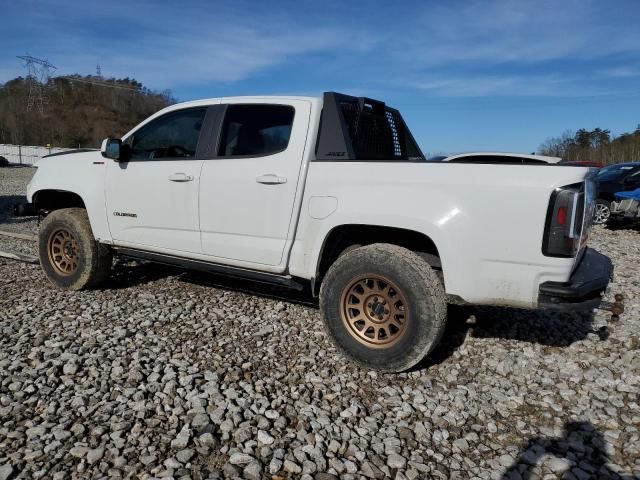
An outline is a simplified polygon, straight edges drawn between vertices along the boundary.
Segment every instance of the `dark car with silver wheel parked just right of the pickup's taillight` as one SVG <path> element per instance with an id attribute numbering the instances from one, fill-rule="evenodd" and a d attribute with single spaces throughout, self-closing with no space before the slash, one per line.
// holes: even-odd
<path id="1" fill-rule="evenodd" d="M 613 194 L 640 188 L 640 162 L 616 163 L 598 172 L 600 193 L 596 203 L 593 223 L 607 223 L 611 214 Z"/>

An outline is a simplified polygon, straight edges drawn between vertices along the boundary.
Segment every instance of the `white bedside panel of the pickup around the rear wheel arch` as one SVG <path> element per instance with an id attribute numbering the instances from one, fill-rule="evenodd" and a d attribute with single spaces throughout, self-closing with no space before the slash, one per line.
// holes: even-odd
<path id="1" fill-rule="evenodd" d="M 536 306 L 538 285 L 568 280 L 574 263 L 542 255 L 551 193 L 587 172 L 552 165 L 312 162 L 290 272 L 315 278 L 324 240 L 337 226 L 393 226 L 433 240 L 447 293 L 476 304 Z M 321 218 L 312 211 L 325 197 L 335 200 L 320 204 L 335 207 Z"/>

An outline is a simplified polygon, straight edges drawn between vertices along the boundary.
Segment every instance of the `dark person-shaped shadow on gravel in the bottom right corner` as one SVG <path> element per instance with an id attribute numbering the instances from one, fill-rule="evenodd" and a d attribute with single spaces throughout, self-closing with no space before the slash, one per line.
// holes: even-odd
<path id="1" fill-rule="evenodd" d="M 638 480 L 636 476 L 620 475 L 609 468 L 606 441 L 589 422 L 568 422 L 562 435 L 557 438 L 536 437 L 528 440 L 501 479 L 542 478 L 539 464 L 544 457 L 564 460 L 555 464 L 553 473 L 557 477 L 554 478 Z"/>

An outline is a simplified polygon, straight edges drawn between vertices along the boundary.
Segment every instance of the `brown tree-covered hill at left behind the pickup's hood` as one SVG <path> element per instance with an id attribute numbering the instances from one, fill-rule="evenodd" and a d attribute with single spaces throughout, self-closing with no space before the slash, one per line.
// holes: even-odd
<path id="1" fill-rule="evenodd" d="M 71 75 L 35 84 L 46 96 L 40 112 L 37 102 L 27 108 L 32 82 L 18 77 L 0 84 L 0 143 L 99 147 L 175 103 L 168 90 L 155 92 L 134 79 Z"/>

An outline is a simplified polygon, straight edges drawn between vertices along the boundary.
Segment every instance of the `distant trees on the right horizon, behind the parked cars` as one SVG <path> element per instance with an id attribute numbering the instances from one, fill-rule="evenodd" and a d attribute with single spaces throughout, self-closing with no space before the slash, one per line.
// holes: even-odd
<path id="1" fill-rule="evenodd" d="M 637 162 L 640 161 L 640 125 L 633 132 L 617 137 L 601 128 L 581 128 L 575 133 L 567 131 L 559 137 L 547 139 L 538 152 L 567 161 L 583 160 L 604 165 Z"/>

